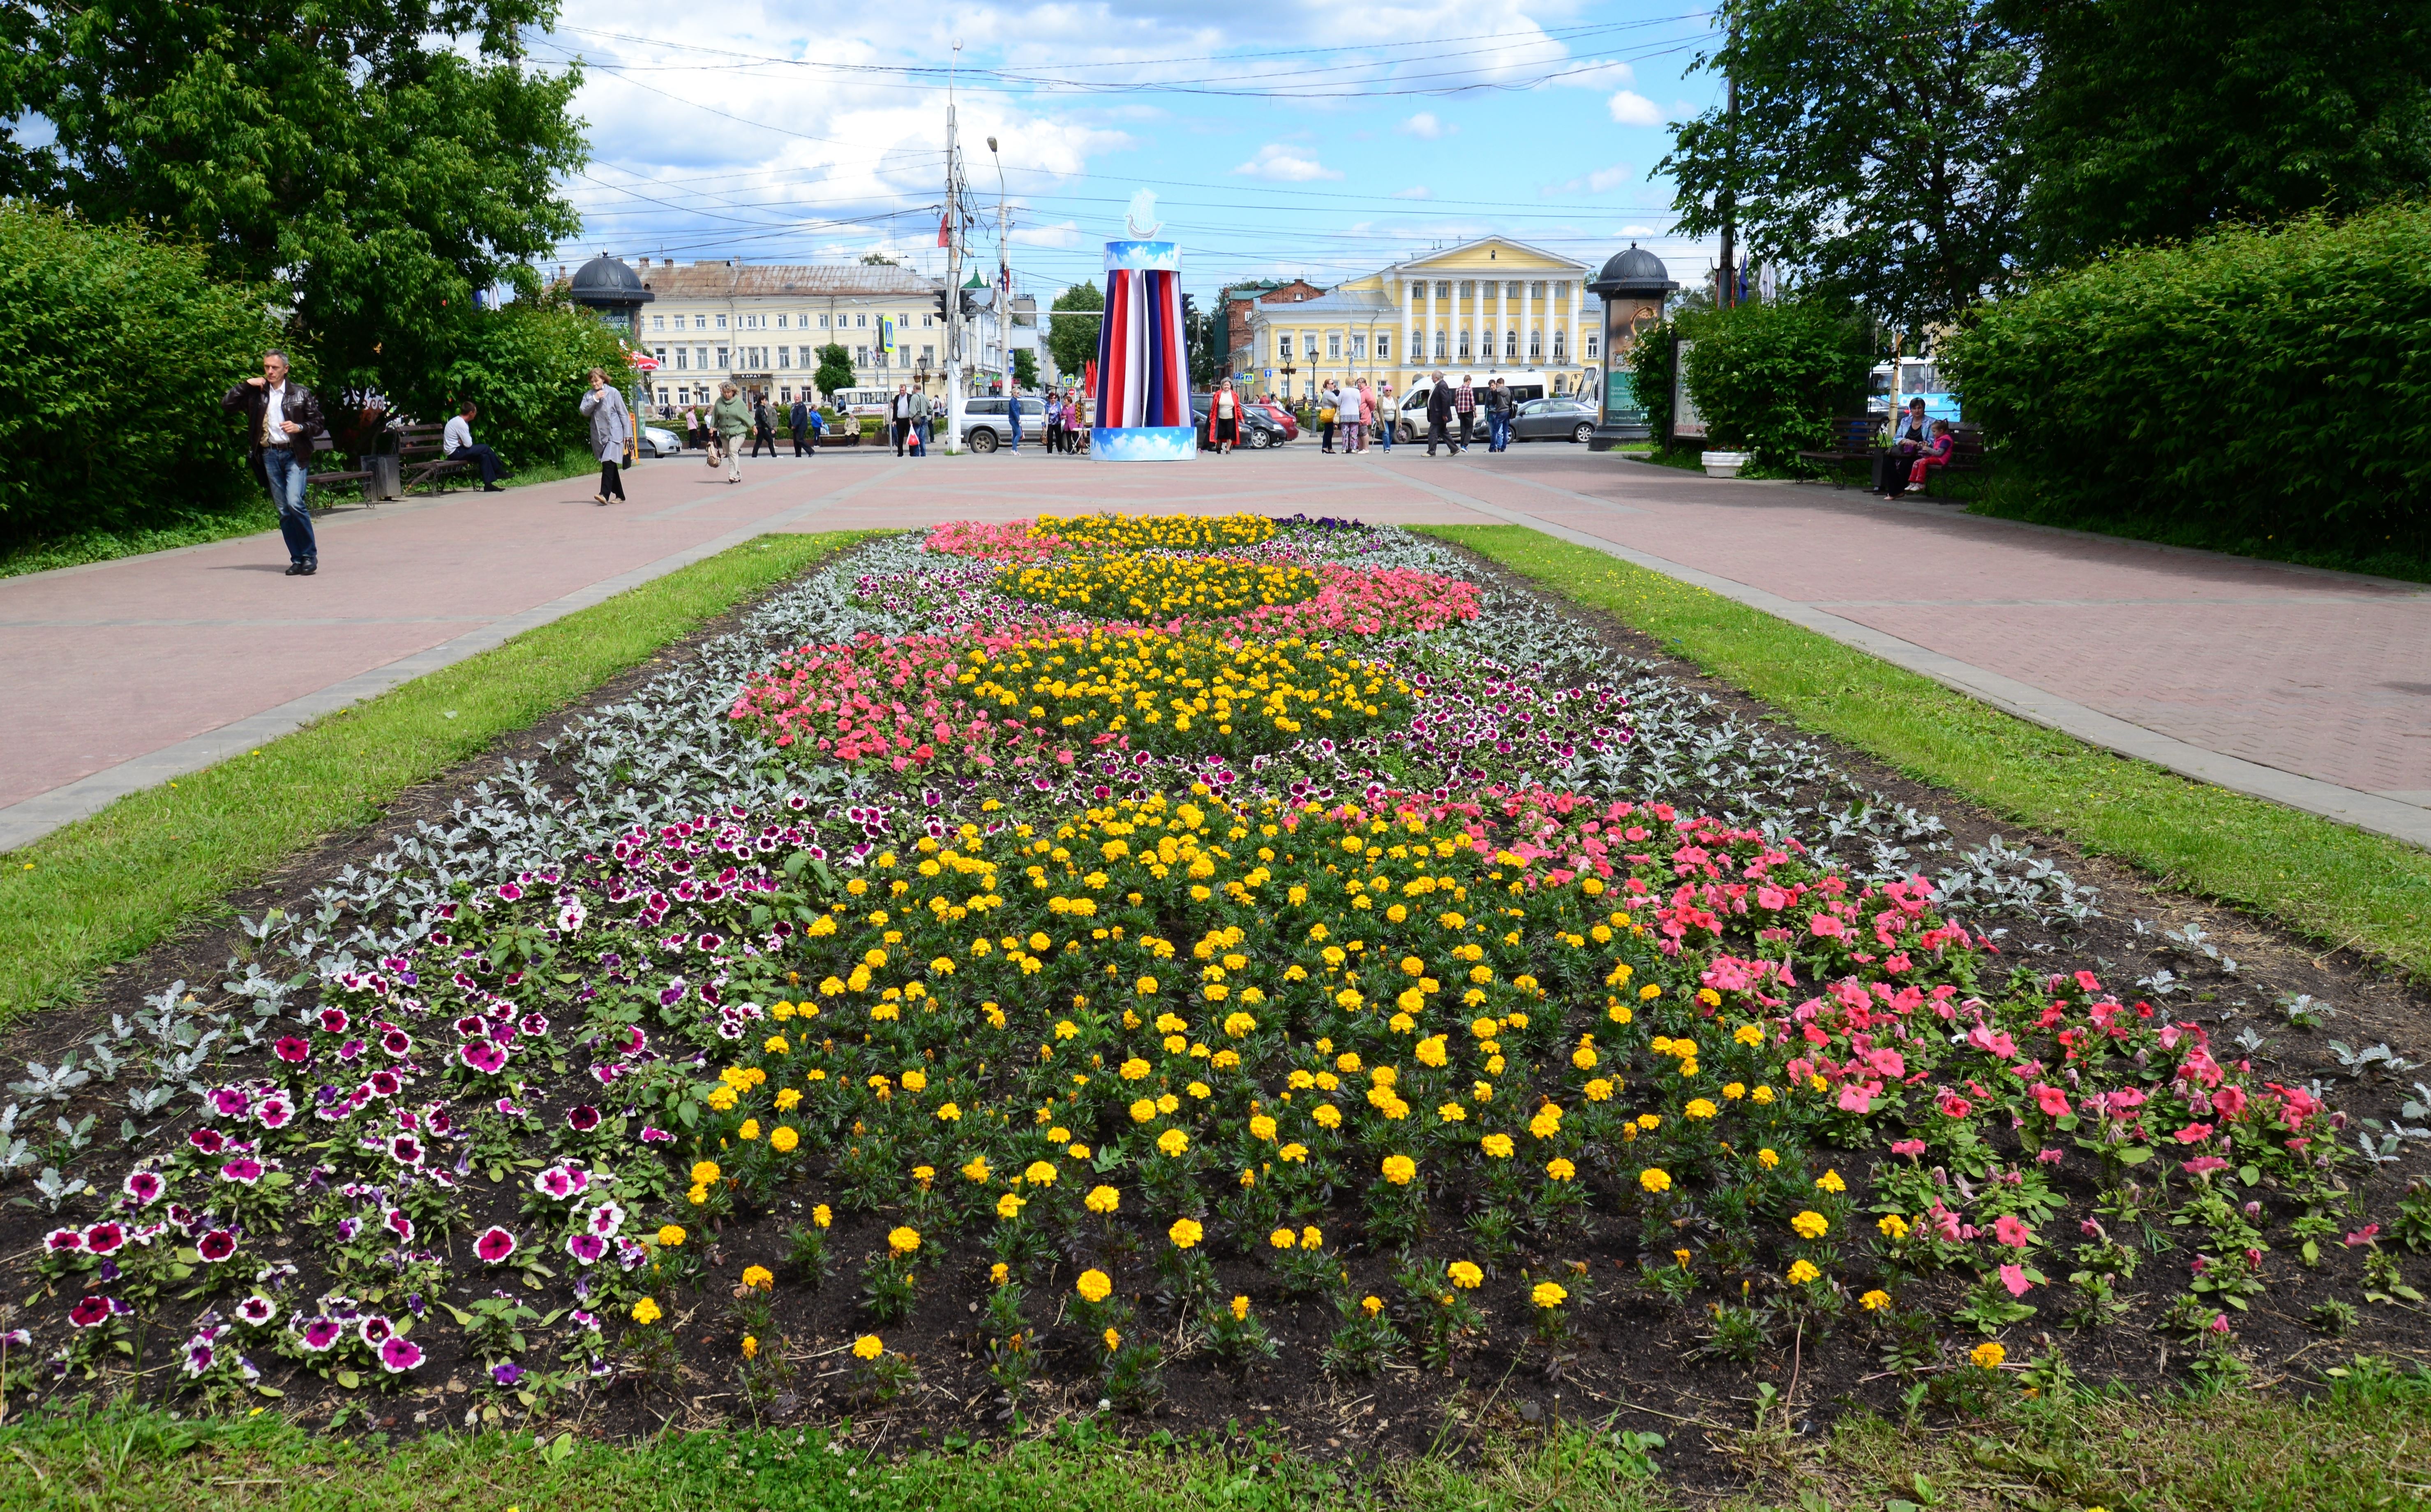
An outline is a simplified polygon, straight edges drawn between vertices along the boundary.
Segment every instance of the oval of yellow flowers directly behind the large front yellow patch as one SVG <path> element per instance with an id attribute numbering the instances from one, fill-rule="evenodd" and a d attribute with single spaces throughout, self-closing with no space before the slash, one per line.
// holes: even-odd
<path id="1" fill-rule="evenodd" d="M 1425 698 L 1391 664 L 1296 637 L 1228 644 L 1208 632 L 1109 630 L 975 649 L 955 678 L 997 720 L 1062 741 L 1271 751 L 1347 737 Z"/>

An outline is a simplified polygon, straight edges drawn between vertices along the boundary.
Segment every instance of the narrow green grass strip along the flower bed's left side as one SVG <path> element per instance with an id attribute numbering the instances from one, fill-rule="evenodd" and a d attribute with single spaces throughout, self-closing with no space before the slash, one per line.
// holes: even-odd
<path id="1" fill-rule="evenodd" d="M 0 1023 L 73 997 L 219 897 L 413 783 L 574 703 L 858 540 L 766 535 L 160 788 L 0 858 Z"/>

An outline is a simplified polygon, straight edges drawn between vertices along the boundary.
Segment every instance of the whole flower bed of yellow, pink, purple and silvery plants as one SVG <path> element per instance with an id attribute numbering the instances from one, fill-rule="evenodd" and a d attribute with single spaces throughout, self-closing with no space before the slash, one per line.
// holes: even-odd
<path id="1" fill-rule="evenodd" d="M 545 1415 L 676 1381 L 715 1298 L 715 1369 L 773 1403 L 788 1308 L 851 1274 L 861 1403 L 946 1371 L 904 1349 L 946 1327 L 1011 1405 L 1138 1407 L 1186 1352 L 1558 1364 L 1629 1308 L 1728 1356 L 1955 1332 L 1947 1390 L 1991 1393 L 1984 1339 L 2100 1327 L 2164 1228 L 2215 1364 L 2273 1247 L 2356 1235 L 2402 1286 L 2319 1089 L 1998 948 L 2088 909 L 2015 851 L 1925 875 L 1925 817 L 1600 681 L 1398 532 L 1048 527 L 1043 569 L 970 527 L 814 576 L 571 734 L 562 792 L 515 771 L 338 878 L 357 933 L 265 919 L 233 1004 L 107 1031 L 139 1133 L 29 1181 L 10 1349 L 44 1364 L 0 1390 L 168 1337 L 202 1395 L 438 1366 Z M 1240 549 L 1315 591 L 1196 627 L 934 591 Z M 2392 1225 L 2431 1242 L 2431 1198 Z"/>

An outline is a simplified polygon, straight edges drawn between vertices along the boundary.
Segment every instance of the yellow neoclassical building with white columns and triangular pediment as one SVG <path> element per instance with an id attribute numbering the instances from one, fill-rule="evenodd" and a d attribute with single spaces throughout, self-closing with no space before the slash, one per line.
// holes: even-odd
<path id="1" fill-rule="evenodd" d="M 1325 379 L 1391 382 L 1442 367 L 1485 382 L 1544 372 L 1549 391 L 1595 391 L 1604 311 L 1585 263 L 1488 236 L 1393 263 L 1293 304 L 1252 304 L 1233 379 L 1252 394 L 1308 396 Z"/>

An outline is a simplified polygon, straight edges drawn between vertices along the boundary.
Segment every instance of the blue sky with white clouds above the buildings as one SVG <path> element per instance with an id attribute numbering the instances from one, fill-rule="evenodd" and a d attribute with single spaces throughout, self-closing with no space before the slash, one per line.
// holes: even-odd
<path id="1" fill-rule="evenodd" d="M 1332 284 L 1488 231 L 1587 263 L 1641 241 L 1682 282 L 1711 263 L 1648 180 L 1668 122 L 1719 90 L 1685 73 L 1709 24 L 1680 0 L 805 10 L 566 0 L 532 49 L 586 68 L 596 160 L 566 260 L 885 250 L 938 272 L 951 85 L 970 246 L 994 265 L 1002 168 L 1038 294 L 1096 275 L 1143 187 L 1201 294 Z"/>

